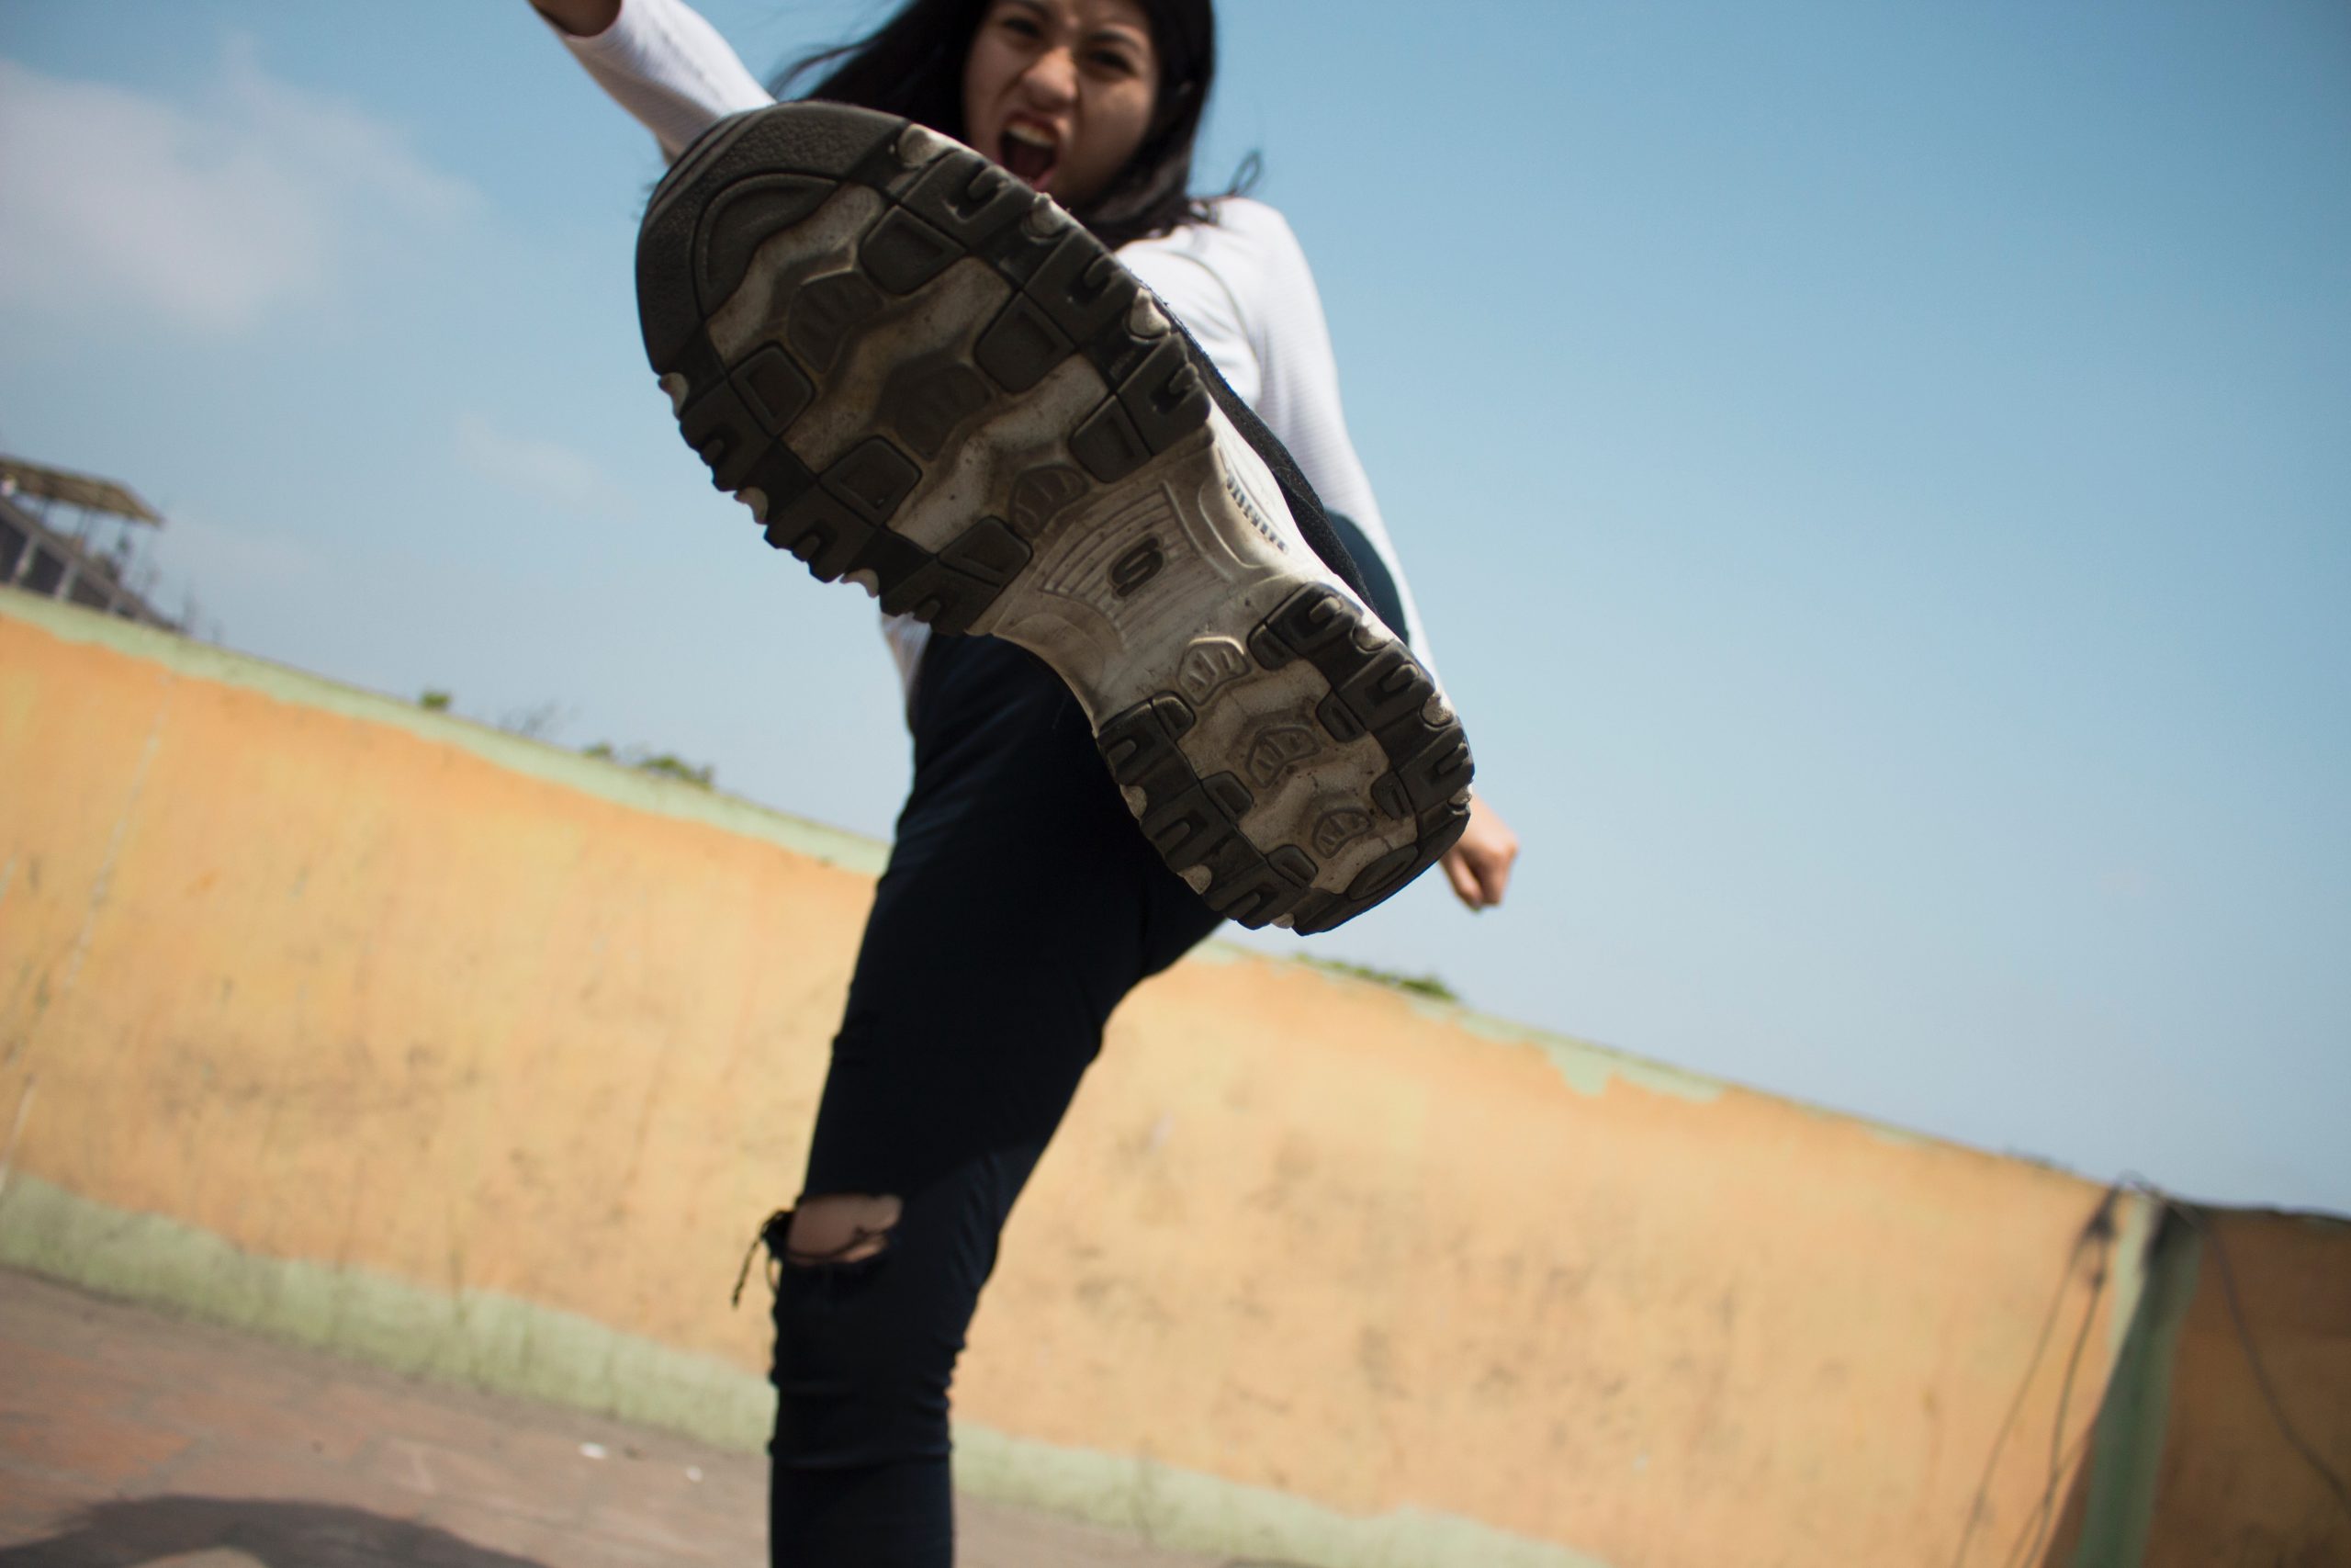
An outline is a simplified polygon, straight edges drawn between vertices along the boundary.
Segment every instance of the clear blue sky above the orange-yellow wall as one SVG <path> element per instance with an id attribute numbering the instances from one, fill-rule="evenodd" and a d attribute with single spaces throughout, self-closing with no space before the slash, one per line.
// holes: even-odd
<path id="1" fill-rule="evenodd" d="M 759 71 L 875 14 L 705 12 Z M 2351 12 L 1223 26 L 1204 169 L 1265 153 L 1526 842 L 1319 950 L 2351 1211 Z M 870 607 L 675 440 L 658 158 L 522 0 L 12 0 L 0 61 L 0 449 L 160 503 L 167 599 L 889 830 Z"/>

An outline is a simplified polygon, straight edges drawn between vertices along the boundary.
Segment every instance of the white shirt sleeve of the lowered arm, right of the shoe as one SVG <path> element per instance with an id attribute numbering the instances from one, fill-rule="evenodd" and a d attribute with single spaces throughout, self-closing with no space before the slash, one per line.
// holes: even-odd
<path id="1" fill-rule="evenodd" d="M 1364 531 L 1404 599 L 1396 630 L 1434 675 L 1420 604 L 1347 435 L 1321 292 L 1288 221 L 1265 202 L 1227 197 L 1215 202 L 1215 223 L 1138 240 L 1119 249 L 1119 261 L 1166 301 L 1241 402 L 1291 449 L 1324 508 Z"/>

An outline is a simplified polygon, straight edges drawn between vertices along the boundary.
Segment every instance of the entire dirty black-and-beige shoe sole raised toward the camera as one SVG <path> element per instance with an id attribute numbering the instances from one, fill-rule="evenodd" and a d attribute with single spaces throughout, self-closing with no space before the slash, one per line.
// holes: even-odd
<path id="1" fill-rule="evenodd" d="M 1220 914 L 1326 931 L 1460 837 L 1469 748 L 1427 670 L 1150 292 L 978 153 L 835 103 L 729 120 L 654 193 L 637 306 L 769 543 L 1044 658 Z"/>

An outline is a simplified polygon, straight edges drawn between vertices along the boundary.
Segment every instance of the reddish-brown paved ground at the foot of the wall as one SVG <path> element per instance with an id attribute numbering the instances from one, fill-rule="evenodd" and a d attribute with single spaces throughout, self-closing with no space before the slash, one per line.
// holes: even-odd
<path id="1" fill-rule="evenodd" d="M 964 1500 L 959 1568 L 1215 1568 Z M 766 1563 L 766 1462 L 0 1269 L 5 1568 Z"/>

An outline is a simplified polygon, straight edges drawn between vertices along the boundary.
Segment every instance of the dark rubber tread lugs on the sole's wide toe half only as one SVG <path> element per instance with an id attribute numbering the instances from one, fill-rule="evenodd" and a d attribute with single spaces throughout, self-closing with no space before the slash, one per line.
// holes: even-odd
<path id="1" fill-rule="evenodd" d="M 969 148 L 910 136 L 903 120 L 828 108 L 823 115 L 736 115 L 705 132 L 670 169 L 637 242 L 647 357 L 654 369 L 686 378 L 679 428 L 712 482 L 729 491 L 755 487 L 769 498 L 771 545 L 804 559 L 820 581 L 872 571 L 884 607 L 905 604 L 900 614 L 929 618 L 936 630 L 964 630 L 985 614 L 1002 581 L 952 559 L 940 564 L 907 541 L 879 545 L 870 538 L 922 480 L 905 451 L 879 437 L 863 442 L 825 473 L 825 496 L 811 496 L 809 482 L 759 482 L 778 458 L 799 465 L 783 435 L 886 299 L 919 289 L 973 254 L 1018 289 L 973 353 L 1004 393 L 1034 388 L 1072 353 L 1086 353 L 1098 369 L 1117 364 L 1124 371 L 1112 378 L 1117 393 L 1070 437 L 1072 456 L 1093 482 L 1110 484 L 1197 430 L 1208 402 L 1204 393 L 1190 395 L 1197 386 L 1190 364 L 1152 357 L 1173 346 L 1164 324 L 1154 324 L 1154 334 L 1124 329 L 1138 284 L 1065 212 Z M 915 141 L 922 141 L 922 162 L 910 167 L 900 150 Z M 889 197 L 858 240 L 856 266 L 797 289 L 783 348 L 766 343 L 743 364 L 726 367 L 710 346 L 708 313 L 741 287 L 769 233 L 811 214 L 842 183 Z M 762 216 L 773 226 L 762 230 Z M 933 458 L 987 397 L 983 386 L 955 374 L 917 383 L 900 371 L 879 402 L 884 423 L 905 447 Z M 877 442 L 886 456 L 875 451 Z M 1023 475 L 1009 508 L 1011 529 L 1034 538 L 1086 489 L 1077 468 Z M 955 555 L 957 543 L 943 557 Z"/>

